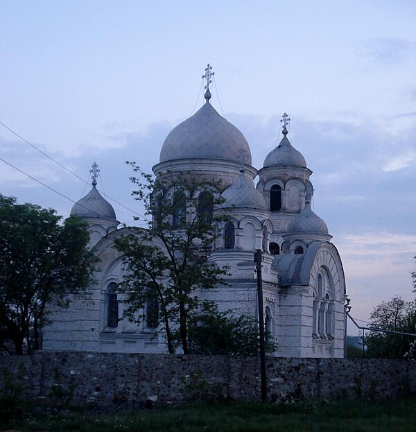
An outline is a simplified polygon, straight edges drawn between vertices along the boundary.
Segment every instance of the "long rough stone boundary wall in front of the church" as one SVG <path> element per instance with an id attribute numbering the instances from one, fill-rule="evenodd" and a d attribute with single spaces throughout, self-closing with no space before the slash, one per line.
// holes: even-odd
<path id="1" fill-rule="evenodd" d="M 416 360 L 267 358 L 268 399 L 395 398 L 416 392 Z M 0 357 L 0 395 L 106 406 L 148 399 L 260 399 L 259 359 L 234 356 L 37 352 Z M 60 400 L 62 399 L 62 400 Z"/>

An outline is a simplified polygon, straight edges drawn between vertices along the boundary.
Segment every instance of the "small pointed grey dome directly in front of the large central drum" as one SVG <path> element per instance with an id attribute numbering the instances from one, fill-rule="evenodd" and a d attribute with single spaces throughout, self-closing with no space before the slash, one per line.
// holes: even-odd
<path id="1" fill-rule="evenodd" d="M 225 198 L 223 205 L 220 208 L 229 207 L 252 207 L 254 209 L 267 209 L 266 201 L 261 192 L 258 191 L 253 182 L 245 178 L 242 172 L 239 178 L 228 189 L 225 189 L 221 194 Z"/>

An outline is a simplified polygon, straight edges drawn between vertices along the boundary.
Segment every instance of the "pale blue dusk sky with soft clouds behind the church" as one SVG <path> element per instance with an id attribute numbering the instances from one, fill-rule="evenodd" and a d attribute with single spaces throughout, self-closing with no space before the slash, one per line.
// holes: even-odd
<path id="1" fill-rule="evenodd" d="M 352 316 L 413 300 L 416 1 L 0 0 L 1 123 L 80 178 L 97 162 L 98 189 L 138 213 L 124 162 L 157 164 L 168 132 L 203 103 L 208 62 L 211 103 L 257 169 L 291 117 Z M 71 200 L 90 187 L 7 128 L 0 193 L 69 216 L 70 200 L 8 164 Z"/>

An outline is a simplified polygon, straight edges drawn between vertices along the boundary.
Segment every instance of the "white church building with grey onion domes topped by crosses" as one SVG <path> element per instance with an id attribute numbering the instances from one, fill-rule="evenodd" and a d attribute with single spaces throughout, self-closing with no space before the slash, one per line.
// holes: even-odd
<path id="1" fill-rule="evenodd" d="M 283 138 L 257 170 L 243 134 L 210 103 L 210 67 L 204 105 L 166 137 L 156 178 L 191 173 L 221 182 L 226 212 L 209 260 L 229 266 L 227 285 L 200 293 L 220 310 L 257 317 L 257 275 L 254 252 L 263 251 L 263 311 L 266 329 L 278 349 L 275 356 L 343 357 L 345 338 L 345 276 L 327 225 L 311 210 L 312 171 Z M 241 154 L 245 160 L 241 162 Z M 258 177 L 257 186 L 254 180 Z M 211 193 L 202 191 L 202 193 Z M 205 196 L 206 198 L 206 196 Z M 165 353 L 166 340 L 155 325 L 157 302 L 148 302 L 141 325 L 121 319 L 123 301 L 117 293 L 123 257 L 113 247 L 121 227 L 112 205 L 92 189 L 71 209 L 89 225 L 90 248 L 100 258 L 97 283 L 89 300 L 74 300 L 69 309 L 54 311 L 44 328 L 42 348 L 92 352 Z"/>

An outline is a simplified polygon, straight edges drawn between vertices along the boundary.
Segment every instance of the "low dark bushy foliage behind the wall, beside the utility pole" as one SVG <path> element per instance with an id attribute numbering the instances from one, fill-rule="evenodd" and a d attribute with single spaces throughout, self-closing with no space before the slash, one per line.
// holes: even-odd
<path id="1" fill-rule="evenodd" d="M 223 356 L 259 356 L 260 336 L 257 320 L 250 316 L 233 316 L 234 311 L 220 312 L 210 302 L 189 322 L 191 354 Z M 277 350 L 277 344 L 266 334 L 266 354 Z"/>

